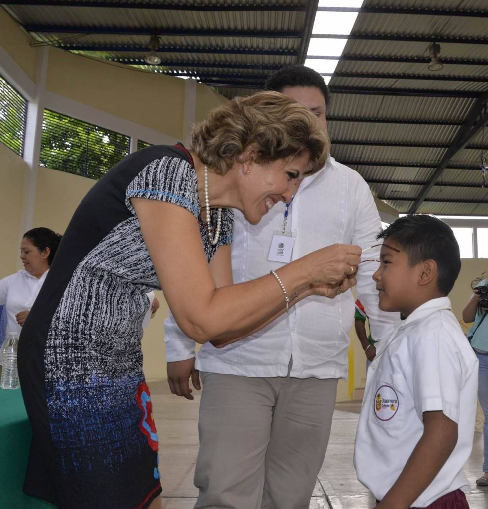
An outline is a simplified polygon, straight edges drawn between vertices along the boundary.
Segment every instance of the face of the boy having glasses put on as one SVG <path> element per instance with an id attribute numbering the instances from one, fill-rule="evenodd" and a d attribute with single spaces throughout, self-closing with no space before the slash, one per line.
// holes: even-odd
<path id="1" fill-rule="evenodd" d="M 407 252 L 396 242 L 385 239 L 380 251 L 380 268 L 373 274 L 382 311 L 399 311 L 409 316 L 415 302 L 419 266 L 410 267 Z"/>

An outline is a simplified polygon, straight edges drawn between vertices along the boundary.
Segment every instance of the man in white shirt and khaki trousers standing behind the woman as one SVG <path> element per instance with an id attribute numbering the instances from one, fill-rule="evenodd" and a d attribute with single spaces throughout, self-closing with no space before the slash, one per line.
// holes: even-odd
<path id="1" fill-rule="evenodd" d="M 326 126 L 330 93 L 322 76 L 304 66 L 273 74 L 266 88 L 306 105 Z M 277 204 L 257 225 L 235 212 L 234 282 L 263 276 L 283 263 L 336 242 L 377 244 L 380 218 L 368 185 L 353 169 L 329 157 L 321 172 L 306 177 L 293 202 Z M 270 245 L 286 237 L 279 259 Z M 293 240 L 291 240 L 291 238 Z M 286 247 L 293 242 L 292 249 Z M 275 242 L 273 243 L 275 245 Z M 379 247 L 367 258 L 378 258 Z M 378 308 L 372 273 L 360 265 L 357 293 L 381 341 L 397 320 Z M 200 401 L 200 449 L 195 469 L 195 508 L 297 509 L 308 507 L 324 461 L 337 381 L 348 372 L 354 297 L 309 298 L 290 313 L 243 340 L 216 349 L 204 345 L 195 364 L 194 342 L 170 318 L 166 359 L 171 391 L 193 399 L 188 379 L 204 389 Z M 196 369 L 195 369 L 196 368 Z"/>

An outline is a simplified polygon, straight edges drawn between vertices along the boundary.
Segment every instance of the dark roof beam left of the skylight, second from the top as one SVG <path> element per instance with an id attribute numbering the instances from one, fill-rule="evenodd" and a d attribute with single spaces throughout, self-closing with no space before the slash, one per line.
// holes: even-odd
<path id="1" fill-rule="evenodd" d="M 158 36 L 192 36 L 192 37 L 252 37 L 260 39 L 299 39 L 301 32 L 269 30 L 196 30 L 168 29 L 165 27 L 137 28 L 117 26 L 75 26 L 75 25 L 22 25 L 27 32 L 38 34 L 104 34 L 104 35 L 158 35 Z"/>

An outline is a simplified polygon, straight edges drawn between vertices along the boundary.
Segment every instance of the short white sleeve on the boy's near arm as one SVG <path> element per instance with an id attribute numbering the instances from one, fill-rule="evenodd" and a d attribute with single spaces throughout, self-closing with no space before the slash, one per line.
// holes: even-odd
<path id="1" fill-rule="evenodd" d="M 464 361 L 449 332 L 439 324 L 411 345 L 413 398 L 419 418 L 423 412 L 442 410 L 454 422 L 460 418 Z"/>

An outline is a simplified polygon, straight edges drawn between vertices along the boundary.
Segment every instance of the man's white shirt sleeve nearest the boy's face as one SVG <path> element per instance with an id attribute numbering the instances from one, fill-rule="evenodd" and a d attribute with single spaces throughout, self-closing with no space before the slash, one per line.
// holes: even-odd
<path id="1" fill-rule="evenodd" d="M 372 245 L 381 243 L 376 236 L 381 232 L 381 221 L 375 200 L 372 197 L 369 186 L 360 178 L 356 190 L 356 217 L 353 244 L 360 245 L 363 249 Z M 379 259 L 381 246 L 369 249 L 362 258 Z M 372 275 L 378 269 L 378 263 L 366 262 L 359 265 L 358 284 L 356 292 L 359 300 L 362 302 L 366 315 L 369 319 L 369 329 L 371 337 L 375 341 L 386 339 L 393 329 L 400 322 L 399 313 L 390 313 L 382 311 L 378 307 L 378 291 Z"/>

